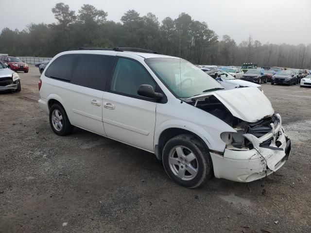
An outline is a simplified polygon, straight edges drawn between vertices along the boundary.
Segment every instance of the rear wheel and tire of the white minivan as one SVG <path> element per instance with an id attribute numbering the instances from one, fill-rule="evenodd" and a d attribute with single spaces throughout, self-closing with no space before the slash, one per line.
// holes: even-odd
<path id="1" fill-rule="evenodd" d="M 72 132 L 73 126 L 70 124 L 65 109 L 60 104 L 55 103 L 52 105 L 50 108 L 49 119 L 51 128 L 55 134 L 65 136 Z"/>

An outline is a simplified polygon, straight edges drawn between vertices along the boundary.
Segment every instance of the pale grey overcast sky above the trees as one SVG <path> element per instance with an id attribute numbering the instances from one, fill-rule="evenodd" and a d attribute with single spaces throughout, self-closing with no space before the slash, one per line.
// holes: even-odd
<path id="1" fill-rule="evenodd" d="M 311 0 L 0 0 L 0 30 L 55 22 L 51 9 L 57 2 L 76 13 L 83 4 L 92 4 L 114 21 L 131 9 L 140 16 L 152 12 L 159 21 L 185 12 L 194 20 L 206 21 L 220 38 L 228 34 L 237 43 L 249 34 L 262 44 L 311 43 Z"/>

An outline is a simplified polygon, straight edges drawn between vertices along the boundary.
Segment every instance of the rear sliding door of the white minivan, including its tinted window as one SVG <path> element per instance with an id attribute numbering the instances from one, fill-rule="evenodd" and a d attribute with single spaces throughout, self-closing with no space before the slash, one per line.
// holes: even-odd
<path id="1" fill-rule="evenodd" d="M 72 124 L 106 135 L 103 126 L 103 96 L 107 78 L 111 76 L 116 57 L 79 54 L 72 71 L 72 89 L 68 98 Z"/>

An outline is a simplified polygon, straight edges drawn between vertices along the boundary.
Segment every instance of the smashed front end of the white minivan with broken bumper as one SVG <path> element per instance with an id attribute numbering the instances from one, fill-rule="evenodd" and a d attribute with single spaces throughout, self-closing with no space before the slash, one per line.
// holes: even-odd
<path id="1" fill-rule="evenodd" d="M 229 111 L 233 105 L 228 98 L 220 95 L 218 98 L 216 94 L 212 94 L 189 102 L 220 118 L 235 130 L 221 133 L 220 138 L 225 143 L 224 151 L 210 151 L 215 177 L 251 182 L 283 166 L 290 155 L 291 141 L 282 127 L 281 116 L 274 114 L 274 111 L 271 112 L 272 107 L 263 111 L 260 104 L 255 107 L 250 105 L 247 108 L 242 107 L 242 101 L 249 104 L 252 100 L 238 101 L 237 108 Z M 259 109 L 255 118 L 253 115 L 245 114 L 245 111 L 246 113 L 256 111 L 256 108 Z M 259 118 L 260 114 L 263 117 Z"/>

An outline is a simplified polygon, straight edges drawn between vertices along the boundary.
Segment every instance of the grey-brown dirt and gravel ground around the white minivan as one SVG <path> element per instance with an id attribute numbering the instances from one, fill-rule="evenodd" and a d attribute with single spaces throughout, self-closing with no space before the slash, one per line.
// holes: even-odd
<path id="1" fill-rule="evenodd" d="M 75 129 L 52 133 L 37 68 L 0 94 L 0 232 L 311 232 L 311 88 L 263 84 L 292 139 L 289 161 L 252 183 L 174 184 L 153 154 Z"/>

